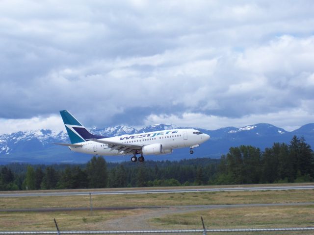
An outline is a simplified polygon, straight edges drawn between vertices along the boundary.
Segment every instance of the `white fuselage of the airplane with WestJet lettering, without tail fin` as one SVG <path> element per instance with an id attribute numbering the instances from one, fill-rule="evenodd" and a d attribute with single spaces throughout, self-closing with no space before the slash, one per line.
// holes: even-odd
<path id="1" fill-rule="evenodd" d="M 195 133 L 199 133 L 199 131 L 194 129 L 174 129 L 140 133 L 134 135 L 116 136 L 100 140 L 119 142 L 122 144 L 136 144 L 142 146 L 158 143 L 162 145 L 163 150 L 172 150 L 175 148 L 197 147 L 199 146 L 199 144 L 209 139 L 209 135 L 207 134 Z M 69 148 L 75 152 L 103 156 L 127 154 L 121 150 L 112 149 L 108 146 L 108 144 L 105 143 L 85 141 L 78 144 L 81 144 L 81 146 L 70 146 Z"/>

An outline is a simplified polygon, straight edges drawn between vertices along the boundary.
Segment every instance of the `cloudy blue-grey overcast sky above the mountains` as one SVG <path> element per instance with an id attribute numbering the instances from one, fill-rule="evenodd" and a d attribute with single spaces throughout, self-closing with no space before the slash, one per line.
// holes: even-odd
<path id="1" fill-rule="evenodd" d="M 313 0 L 1 0 L 0 133 L 314 122 Z"/>

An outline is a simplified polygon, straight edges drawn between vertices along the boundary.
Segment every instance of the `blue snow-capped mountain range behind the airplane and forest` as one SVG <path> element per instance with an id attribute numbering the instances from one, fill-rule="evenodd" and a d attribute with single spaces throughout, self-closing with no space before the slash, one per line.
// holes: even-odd
<path id="1" fill-rule="evenodd" d="M 146 156 L 154 160 L 181 160 L 196 157 L 219 158 L 226 154 L 232 146 L 253 145 L 264 150 L 274 142 L 289 143 L 294 135 L 304 137 L 306 142 L 314 146 L 314 123 L 301 126 L 294 131 L 286 131 L 267 123 L 259 123 L 241 128 L 226 127 L 217 130 L 206 130 L 196 127 L 179 127 L 171 124 L 149 125 L 140 130 L 128 126 L 92 128 L 90 132 L 106 137 L 142 132 L 160 131 L 177 128 L 194 128 L 209 134 L 209 141 L 195 148 L 190 155 L 188 148 L 175 149 L 172 154 Z M 65 131 L 35 130 L 19 131 L 0 135 L 0 164 L 12 162 L 30 164 L 52 163 L 86 163 L 91 155 L 75 153 L 67 147 L 52 144 L 54 142 L 70 142 Z M 129 161 L 130 156 L 105 157 L 108 162 Z"/>

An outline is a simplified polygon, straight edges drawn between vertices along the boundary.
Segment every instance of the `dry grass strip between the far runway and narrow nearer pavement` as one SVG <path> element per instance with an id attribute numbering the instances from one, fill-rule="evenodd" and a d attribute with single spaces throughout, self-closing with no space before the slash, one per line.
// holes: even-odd
<path id="1" fill-rule="evenodd" d="M 92 195 L 94 207 L 314 202 L 314 189 Z M 0 209 L 89 207 L 89 195 L 7 197 Z"/>

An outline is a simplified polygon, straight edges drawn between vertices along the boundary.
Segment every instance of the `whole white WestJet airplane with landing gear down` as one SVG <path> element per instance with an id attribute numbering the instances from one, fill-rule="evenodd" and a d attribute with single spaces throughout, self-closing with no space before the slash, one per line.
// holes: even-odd
<path id="1" fill-rule="evenodd" d="M 54 143 L 68 146 L 70 150 L 100 156 L 132 155 L 131 161 L 144 162 L 146 155 L 169 154 L 173 149 L 199 147 L 209 140 L 209 135 L 194 129 L 173 129 L 116 137 L 98 136 L 90 133 L 67 110 L 60 111 L 71 143 Z M 140 154 L 140 157 L 136 155 Z"/>

